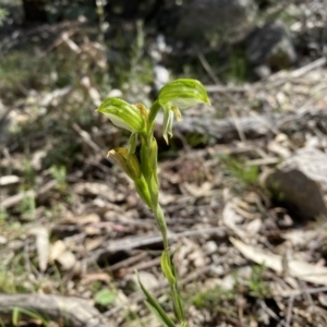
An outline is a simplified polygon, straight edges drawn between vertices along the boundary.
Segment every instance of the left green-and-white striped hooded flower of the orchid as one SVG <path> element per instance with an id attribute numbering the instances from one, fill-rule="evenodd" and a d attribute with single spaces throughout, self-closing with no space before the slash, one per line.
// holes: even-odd
<path id="1" fill-rule="evenodd" d="M 96 111 L 107 116 L 117 126 L 132 133 L 140 133 L 145 129 L 144 117 L 140 108 L 122 99 L 107 98 Z"/>

